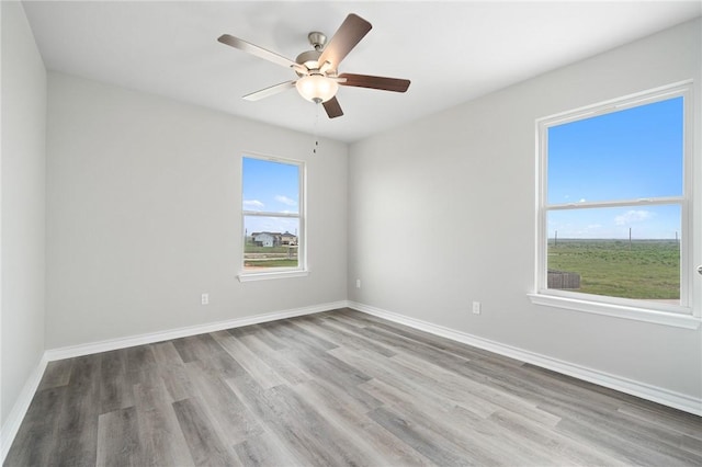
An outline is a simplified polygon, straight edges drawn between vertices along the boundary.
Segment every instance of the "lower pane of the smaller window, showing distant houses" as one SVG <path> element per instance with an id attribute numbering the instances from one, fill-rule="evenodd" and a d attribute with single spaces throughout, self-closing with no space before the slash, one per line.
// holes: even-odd
<path id="1" fill-rule="evenodd" d="M 298 266 L 299 219 L 244 216 L 244 270 Z"/>

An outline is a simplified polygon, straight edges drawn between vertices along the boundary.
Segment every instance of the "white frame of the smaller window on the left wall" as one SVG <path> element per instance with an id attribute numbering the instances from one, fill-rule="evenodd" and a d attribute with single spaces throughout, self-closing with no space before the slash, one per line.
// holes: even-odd
<path id="1" fill-rule="evenodd" d="M 276 156 L 265 156 L 256 152 L 245 152 L 241 155 L 239 167 L 241 168 L 241 196 L 244 201 L 244 159 L 259 159 L 276 163 L 285 163 L 288 166 L 297 166 L 298 170 L 298 212 L 297 213 L 275 213 L 264 210 L 249 210 L 244 208 L 241 203 L 241 270 L 237 275 L 239 282 L 265 281 L 274 278 L 304 277 L 309 274 L 307 270 L 307 216 L 306 216 L 306 195 L 307 195 L 307 166 L 302 160 L 286 159 Z M 245 249 L 246 249 L 246 218 L 247 217 L 281 217 L 295 218 L 299 223 L 299 231 L 297 232 L 297 266 L 296 267 L 271 267 L 271 271 L 246 271 Z"/>

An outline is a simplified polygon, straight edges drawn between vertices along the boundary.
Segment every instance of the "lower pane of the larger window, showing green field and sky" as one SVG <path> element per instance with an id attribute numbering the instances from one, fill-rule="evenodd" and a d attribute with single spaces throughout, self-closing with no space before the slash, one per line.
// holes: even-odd
<path id="1" fill-rule="evenodd" d="M 551 210 L 547 226 L 547 288 L 680 304 L 680 206 Z"/>

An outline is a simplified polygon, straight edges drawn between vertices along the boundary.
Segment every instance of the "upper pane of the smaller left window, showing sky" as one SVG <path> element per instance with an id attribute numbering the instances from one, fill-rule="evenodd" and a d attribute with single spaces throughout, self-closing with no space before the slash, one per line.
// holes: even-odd
<path id="1" fill-rule="evenodd" d="M 299 167 L 292 163 L 244 158 L 245 210 L 299 213 Z"/>

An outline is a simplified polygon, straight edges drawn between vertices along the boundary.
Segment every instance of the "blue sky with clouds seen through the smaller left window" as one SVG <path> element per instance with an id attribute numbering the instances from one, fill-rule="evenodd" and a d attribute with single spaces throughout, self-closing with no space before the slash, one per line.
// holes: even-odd
<path id="1" fill-rule="evenodd" d="M 270 160 L 244 158 L 242 207 L 267 213 L 299 212 L 299 167 Z M 254 231 L 299 232 L 294 218 L 247 216 L 245 228 Z"/>

